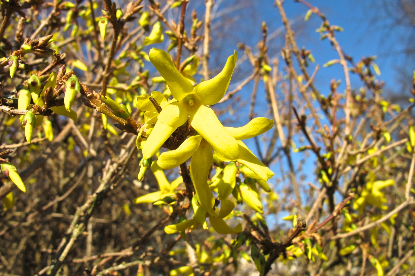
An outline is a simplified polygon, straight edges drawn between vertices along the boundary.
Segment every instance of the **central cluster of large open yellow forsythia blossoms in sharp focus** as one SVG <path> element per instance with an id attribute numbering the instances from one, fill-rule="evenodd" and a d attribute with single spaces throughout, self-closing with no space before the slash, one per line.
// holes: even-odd
<path id="1" fill-rule="evenodd" d="M 234 209 L 234 203 L 227 199 L 228 196 L 231 193 L 235 196 L 235 190 L 237 190 L 236 194 L 239 194 L 239 197 L 242 197 L 250 208 L 256 212 L 262 212 L 256 183 L 259 183 L 262 188 L 268 187 L 266 181 L 274 174 L 242 140 L 271 129 L 273 120 L 255 118 L 243 127 L 224 127 L 215 112 L 207 106 L 219 102 L 225 95 L 237 61 L 236 51 L 229 56 L 225 67 L 217 76 L 195 87 L 177 70 L 170 55 L 165 51 L 153 48 L 149 53 L 149 59 L 166 81 L 173 100 L 168 101 L 161 93 L 153 92 L 152 96 L 160 105 L 161 110 L 156 110 L 147 95 L 142 95 L 137 100 L 137 107 L 146 111 L 144 117 L 147 117 L 147 120 L 143 127 L 150 130 L 146 132 L 146 141 L 137 143 L 137 147 L 142 148 L 143 160 L 151 160 L 173 132 L 178 127 L 186 125 L 187 122 L 196 132 L 177 149 L 161 153 L 156 161 L 161 169 L 166 170 L 185 163 L 191 157 L 190 178 L 195 188 L 195 198 L 197 198 L 197 202 L 192 204 L 195 217 L 178 225 L 169 225 L 166 227 L 166 232 L 180 232 L 195 224 L 200 224 L 205 228 L 206 216 L 210 218 L 210 224 L 219 233 L 242 231 L 240 225 L 232 229 L 223 220 Z M 141 134 L 142 131 L 137 141 L 143 140 L 140 138 Z M 218 181 L 210 181 L 211 185 L 209 185 L 208 178 L 214 159 L 222 163 L 230 163 L 223 169 L 217 168 L 214 178 Z M 246 183 L 240 183 L 236 187 L 236 175 L 239 172 L 245 176 Z M 217 192 L 218 199 L 222 201 L 219 214 L 214 210 L 215 197 L 212 190 Z M 265 190 L 269 192 L 269 187 Z M 160 190 L 162 191 L 163 189 Z M 196 210 L 198 208 L 200 211 Z"/>

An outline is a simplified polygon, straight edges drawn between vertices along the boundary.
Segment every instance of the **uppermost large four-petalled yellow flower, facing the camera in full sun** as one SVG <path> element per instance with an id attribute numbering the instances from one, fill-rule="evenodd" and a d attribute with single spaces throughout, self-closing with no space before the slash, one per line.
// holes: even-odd
<path id="1" fill-rule="evenodd" d="M 239 145 L 217 119 L 215 112 L 205 105 L 217 103 L 228 88 L 237 60 L 236 51 L 229 56 L 225 67 L 214 78 L 193 85 L 174 66 L 171 57 L 160 49 L 151 49 L 150 61 L 166 81 L 174 99 L 161 110 L 158 121 L 143 147 L 143 157 L 149 159 L 170 137 L 173 132 L 186 123 L 190 124 L 212 147 L 222 161 L 232 161 L 239 157 Z M 202 143 L 203 147 L 205 143 Z M 210 146 L 209 146 L 210 145 Z"/>

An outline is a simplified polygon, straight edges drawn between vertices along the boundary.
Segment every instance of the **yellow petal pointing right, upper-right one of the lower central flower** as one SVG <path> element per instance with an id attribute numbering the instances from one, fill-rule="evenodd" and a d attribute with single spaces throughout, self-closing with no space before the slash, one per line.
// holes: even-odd
<path id="1" fill-rule="evenodd" d="M 252 119 L 243 127 L 225 127 L 227 132 L 237 140 L 249 139 L 268 131 L 274 125 L 274 120 L 264 117 Z"/>

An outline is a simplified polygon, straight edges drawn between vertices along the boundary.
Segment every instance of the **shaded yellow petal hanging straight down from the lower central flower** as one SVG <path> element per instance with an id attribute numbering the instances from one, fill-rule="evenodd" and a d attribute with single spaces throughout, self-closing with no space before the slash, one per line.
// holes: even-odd
<path id="1" fill-rule="evenodd" d="M 212 209 L 213 205 L 215 205 L 215 198 L 213 198 L 213 194 L 207 185 L 207 178 L 212 163 L 212 150 L 209 144 L 202 140 L 190 160 L 190 177 L 192 178 L 198 201 L 206 210 Z"/>

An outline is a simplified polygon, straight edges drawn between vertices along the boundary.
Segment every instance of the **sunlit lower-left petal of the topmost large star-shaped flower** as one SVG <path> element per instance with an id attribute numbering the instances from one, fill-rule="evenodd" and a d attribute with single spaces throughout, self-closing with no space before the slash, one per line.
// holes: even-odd
<path id="1" fill-rule="evenodd" d="M 179 106 L 178 102 L 173 102 L 161 110 L 158 121 L 143 146 L 143 157 L 145 159 L 153 156 L 176 128 L 183 125 L 188 119 L 186 110 L 180 110 Z"/>

